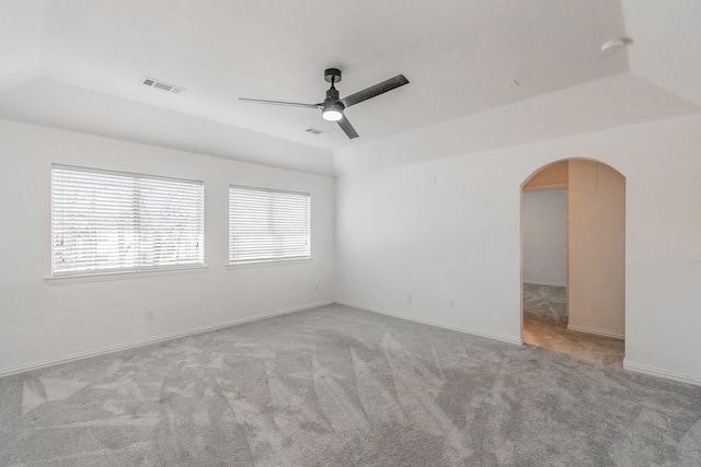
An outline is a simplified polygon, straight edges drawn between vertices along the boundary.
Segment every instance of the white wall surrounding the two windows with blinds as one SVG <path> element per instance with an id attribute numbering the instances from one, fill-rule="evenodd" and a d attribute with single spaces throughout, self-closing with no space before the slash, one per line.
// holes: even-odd
<path id="1" fill-rule="evenodd" d="M 332 300 L 331 177 L 7 120 L 0 154 L 0 374 Z M 208 269 L 47 283 L 51 163 L 204 180 Z M 313 259 L 227 269 L 229 184 L 311 192 Z"/>

